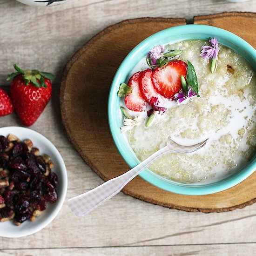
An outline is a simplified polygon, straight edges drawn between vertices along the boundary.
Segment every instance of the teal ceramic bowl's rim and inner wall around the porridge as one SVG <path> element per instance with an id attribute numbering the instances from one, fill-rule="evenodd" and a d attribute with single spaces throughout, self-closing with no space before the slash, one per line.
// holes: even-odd
<path id="1" fill-rule="evenodd" d="M 216 37 L 218 41 L 243 56 L 249 61 L 251 67 L 256 70 L 256 50 L 245 40 L 229 31 L 217 27 L 205 25 L 184 25 L 171 27 L 151 35 L 138 44 L 122 61 L 113 79 L 108 99 L 108 122 L 115 145 L 127 164 L 133 168 L 140 161 L 137 159 L 132 148 L 129 146 L 126 136 L 121 134 L 121 111 L 117 91 L 120 84 L 127 81 L 128 75 L 135 67 L 135 64 L 147 55 L 149 50 L 159 44 L 167 44 L 181 40 L 202 39 Z M 145 169 L 140 176 L 147 182 L 161 189 L 182 195 L 208 195 L 229 189 L 245 180 L 256 170 L 256 158 L 254 157 L 244 168 L 229 177 L 209 184 L 183 184 L 173 182 L 160 175 Z"/>

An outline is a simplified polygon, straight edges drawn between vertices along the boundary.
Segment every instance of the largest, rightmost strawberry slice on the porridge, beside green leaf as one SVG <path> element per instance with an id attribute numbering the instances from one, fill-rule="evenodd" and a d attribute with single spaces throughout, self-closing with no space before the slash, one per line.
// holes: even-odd
<path id="1" fill-rule="evenodd" d="M 186 77 L 187 64 L 181 60 L 170 61 L 164 67 L 157 67 L 152 74 L 156 91 L 165 98 L 173 99 L 182 89 L 181 75 Z"/>

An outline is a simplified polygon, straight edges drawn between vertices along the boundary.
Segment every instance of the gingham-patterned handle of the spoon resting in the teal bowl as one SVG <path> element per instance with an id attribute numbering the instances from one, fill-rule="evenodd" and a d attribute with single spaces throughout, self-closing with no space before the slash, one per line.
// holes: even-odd
<path id="1" fill-rule="evenodd" d="M 121 189 L 130 182 L 135 176 L 137 176 L 142 170 L 148 167 L 152 162 L 166 155 L 174 150 L 165 146 L 158 150 L 153 155 L 149 156 L 145 161 L 141 162 L 135 168 L 132 168 L 128 172 L 104 182 L 100 186 L 78 196 L 75 196 L 68 200 L 67 204 L 71 211 L 77 216 L 85 216 L 90 211 L 94 210 L 101 203 L 106 202 L 112 196 L 116 195 Z"/>

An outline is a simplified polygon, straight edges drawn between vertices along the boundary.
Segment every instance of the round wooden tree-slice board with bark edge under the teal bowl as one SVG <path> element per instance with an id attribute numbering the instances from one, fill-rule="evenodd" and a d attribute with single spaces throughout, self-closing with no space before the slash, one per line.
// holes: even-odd
<path id="1" fill-rule="evenodd" d="M 256 47 L 256 13 L 199 16 L 195 24 L 227 29 Z M 128 171 L 108 128 L 108 91 L 124 57 L 142 40 L 185 19 L 142 18 L 107 27 L 67 63 L 61 79 L 61 115 L 67 135 L 84 161 L 104 181 Z M 212 195 L 178 195 L 137 176 L 123 193 L 146 202 L 190 212 L 224 212 L 256 202 L 256 173 L 237 186 Z M 82 192 L 82 191 L 81 191 Z"/>

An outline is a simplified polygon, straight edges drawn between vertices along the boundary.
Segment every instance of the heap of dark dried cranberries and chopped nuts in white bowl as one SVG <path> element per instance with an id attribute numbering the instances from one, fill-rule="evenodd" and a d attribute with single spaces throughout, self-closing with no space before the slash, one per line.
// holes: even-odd
<path id="1" fill-rule="evenodd" d="M 57 201 L 58 177 L 42 156 L 28 152 L 24 142 L 12 141 L 13 148 L 5 152 L 9 142 L 0 136 L 0 168 L 7 169 L 1 171 L 1 178 L 9 182 L 7 187 L 0 188 L 0 204 L 6 205 L 0 209 L 0 215 L 10 219 L 15 216 L 18 224 L 31 218 L 35 209 L 43 211 L 47 202 Z"/>

